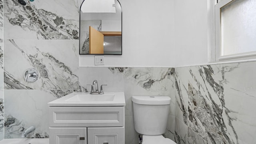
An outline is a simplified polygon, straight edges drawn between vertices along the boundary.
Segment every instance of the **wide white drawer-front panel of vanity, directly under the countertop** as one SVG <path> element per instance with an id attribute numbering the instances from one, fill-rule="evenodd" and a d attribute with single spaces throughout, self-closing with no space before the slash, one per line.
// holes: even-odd
<path id="1" fill-rule="evenodd" d="M 50 127 L 124 126 L 124 106 L 49 107 Z"/>

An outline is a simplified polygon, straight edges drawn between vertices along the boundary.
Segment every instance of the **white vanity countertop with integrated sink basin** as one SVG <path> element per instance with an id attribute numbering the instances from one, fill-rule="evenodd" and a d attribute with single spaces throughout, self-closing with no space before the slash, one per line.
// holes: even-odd
<path id="1" fill-rule="evenodd" d="M 89 94 L 73 92 L 48 103 L 48 106 L 125 106 L 124 92 Z"/>

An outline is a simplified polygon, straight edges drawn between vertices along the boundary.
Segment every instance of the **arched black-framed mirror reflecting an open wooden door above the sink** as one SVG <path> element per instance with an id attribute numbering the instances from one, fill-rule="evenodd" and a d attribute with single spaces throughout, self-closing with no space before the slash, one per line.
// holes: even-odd
<path id="1" fill-rule="evenodd" d="M 79 54 L 122 54 L 122 10 L 118 0 L 82 2 Z"/>

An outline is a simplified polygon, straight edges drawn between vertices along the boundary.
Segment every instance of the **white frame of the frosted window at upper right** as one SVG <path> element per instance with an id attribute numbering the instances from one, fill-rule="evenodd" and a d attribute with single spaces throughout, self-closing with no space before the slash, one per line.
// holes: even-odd
<path id="1" fill-rule="evenodd" d="M 220 9 L 233 0 L 208 0 L 208 61 L 222 62 L 234 60 L 256 59 L 256 51 L 244 52 L 239 54 L 230 54 L 220 56 L 221 47 L 221 27 L 220 27 Z M 212 10 L 209 10 L 212 9 Z M 212 20 L 210 20 L 212 19 Z M 212 36 L 213 34 L 214 36 Z"/>

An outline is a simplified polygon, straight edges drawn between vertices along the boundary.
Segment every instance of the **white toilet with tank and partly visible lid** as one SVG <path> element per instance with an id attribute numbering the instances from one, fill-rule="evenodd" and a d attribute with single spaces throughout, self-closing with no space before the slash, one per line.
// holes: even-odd
<path id="1" fill-rule="evenodd" d="M 171 99 L 168 96 L 132 96 L 134 127 L 142 144 L 176 144 L 162 134 L 166 131 Z"/>

